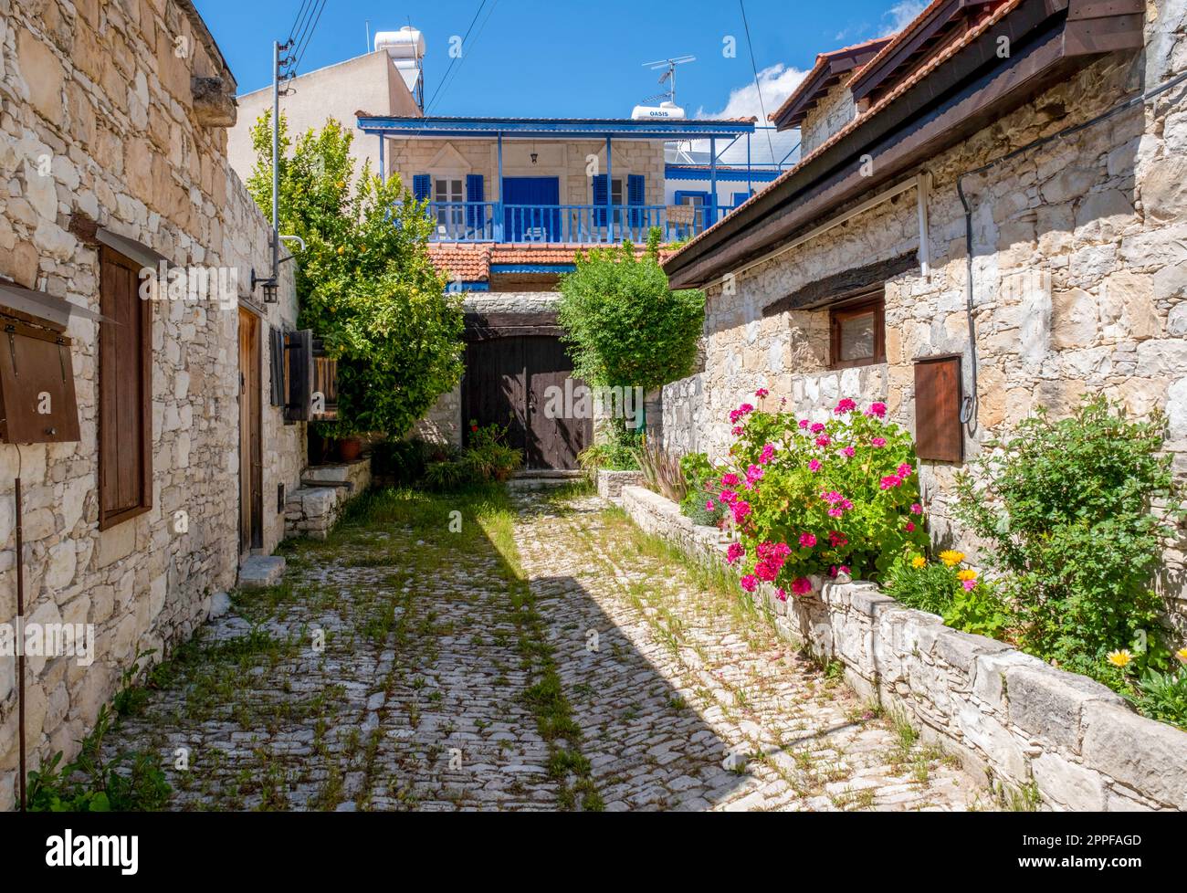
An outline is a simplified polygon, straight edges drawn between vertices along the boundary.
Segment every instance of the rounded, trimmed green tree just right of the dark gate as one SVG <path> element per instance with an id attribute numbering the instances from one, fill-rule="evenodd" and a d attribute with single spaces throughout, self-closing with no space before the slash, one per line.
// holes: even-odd
<path id="1" fill-rule="evenodd" d="M 650 391 L 692 372 L 705 294 L 672 291 L 659 230 L 640 258 L 630 243 L 577 256 L 560 278 L 560 325 L 575 373 L 588 384 Z"/>

